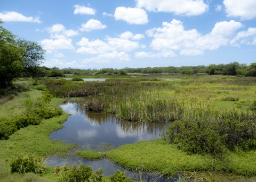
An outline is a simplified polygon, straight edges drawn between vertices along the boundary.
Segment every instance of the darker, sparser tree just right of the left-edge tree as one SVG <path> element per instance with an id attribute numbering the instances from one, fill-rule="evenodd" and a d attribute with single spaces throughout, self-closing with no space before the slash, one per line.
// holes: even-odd
<path id="1" fill-rule="evenodd" d="M 33 78 L 39 77 L 39 65 L 44 60 L 44 50 L 37 42 L 29 41 L 25 39 L 18 39 L 16 42 L 18 47 L 23 47 L 23 67 L 26 76 L 32 76 Z"/>

